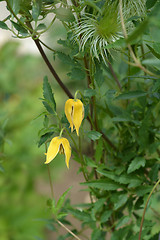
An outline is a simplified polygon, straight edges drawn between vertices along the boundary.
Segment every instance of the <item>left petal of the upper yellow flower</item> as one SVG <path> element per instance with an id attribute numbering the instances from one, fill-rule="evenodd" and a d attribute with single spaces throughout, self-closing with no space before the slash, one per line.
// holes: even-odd
<path id="1" fill-rule="evenodd" d="M 72 132 L 73 132 L 73 107 L 74 107 L 74 100 L 68 99 L 65 103 L 65 114 L 70 124 Z"/>

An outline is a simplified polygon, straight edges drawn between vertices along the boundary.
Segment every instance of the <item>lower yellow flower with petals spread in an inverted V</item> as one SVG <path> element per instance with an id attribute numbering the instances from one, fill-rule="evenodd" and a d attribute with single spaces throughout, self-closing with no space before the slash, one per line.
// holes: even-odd
<path id="1" fill-rule="evenodd" d="M 54 137 L 48 147 L 48 151 L 46 153 L 46 161 L 45 164 L 50 163 L 57 154 L 65 154 L 65 162 L 67 165 L 67 168 L 69 168 L 69 160 L 71 157 L 71 146 L 69 144 L 69 141 L 66 138 L 63 137 Z"/>

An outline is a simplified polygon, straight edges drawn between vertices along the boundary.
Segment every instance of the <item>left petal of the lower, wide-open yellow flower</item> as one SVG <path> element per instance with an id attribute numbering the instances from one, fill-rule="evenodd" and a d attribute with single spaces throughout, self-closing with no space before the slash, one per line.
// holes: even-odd
<path id="1" fill-rule="evenodd" d="M 58 154 L 59 147 L 61 144 L 61 139 L 59 137 L 54 137 L 48 147 L 47 158 L 45 164 L 50 163 Z"/>

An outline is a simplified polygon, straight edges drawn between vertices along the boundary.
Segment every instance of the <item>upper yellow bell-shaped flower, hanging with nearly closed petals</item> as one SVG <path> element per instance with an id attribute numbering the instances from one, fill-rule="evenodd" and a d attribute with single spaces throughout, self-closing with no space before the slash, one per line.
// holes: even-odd
<path id="1" fill-rule="evenodd" d="M 65 103 L 65 114 L 70 123 L 71 132 L 73 132 L 73 127 L 75 127 L 79 136 L 79 128 L 84 118 L 84 107 L 81 100 L 68 99 Z"/>

